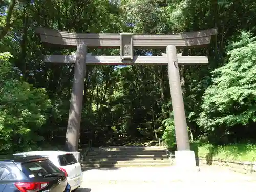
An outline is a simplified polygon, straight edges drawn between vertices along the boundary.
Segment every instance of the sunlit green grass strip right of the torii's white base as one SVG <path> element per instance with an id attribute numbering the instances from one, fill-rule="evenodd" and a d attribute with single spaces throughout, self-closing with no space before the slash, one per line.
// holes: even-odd
<path id="1" fill-rule="evenodd" d="M 214 146 L 211 144 L 191 143 L 191 150 L 199 158 L 219 158 L 229 161 L 256 161 L 256 144 L 232 144 Z"/>

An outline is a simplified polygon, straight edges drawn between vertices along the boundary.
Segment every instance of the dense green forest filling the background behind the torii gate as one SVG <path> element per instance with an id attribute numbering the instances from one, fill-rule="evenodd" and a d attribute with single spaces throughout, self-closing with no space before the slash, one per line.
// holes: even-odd
<path id="1" fill-rule="evenodd" d="M 71 32 L 180 33 L 218 27 L 208 66 L 181 66 L 189 135 L 212 144 L 256 142 L 256 4 L 197 0 L 0 2 L 0 153 L 65 144 L 73 65 L 42 63 L 36 26 Z M 90 49 L 118 55 L 115 49 Z M 165 50 L 135 50 L 137 55 Z M 87 66 L 80 145 L 175 144 L 166 66 Z"/>

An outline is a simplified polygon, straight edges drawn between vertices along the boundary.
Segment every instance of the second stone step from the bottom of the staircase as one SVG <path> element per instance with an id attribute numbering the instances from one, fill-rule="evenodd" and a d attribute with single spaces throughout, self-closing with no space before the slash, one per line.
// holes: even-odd
<path id="1" fill-rule="evenodd" d="M 127 160 L 127 161 L 121 161 L 121 160 L 106 160 L 106 161 L 102 161 L 102 160 L 97 160 L 97 161 L 90 161 L 87 160 L 86 164 L 143 164 L 143 163 L 168 163 L 170 162 L 169 159 L 163 159 L 163 160 Z"/>

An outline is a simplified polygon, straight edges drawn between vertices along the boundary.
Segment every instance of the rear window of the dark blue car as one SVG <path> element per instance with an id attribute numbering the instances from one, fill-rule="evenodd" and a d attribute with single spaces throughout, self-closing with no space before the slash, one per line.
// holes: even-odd
<path id="1" fill-rule="evenodd" d="M 42 161 L 33 161 L 22 163 L 22 172 L 28 178 L 44 177 L 45 175 L 52 173 L 61 173 L 58 167 L 56 167 L 49 159 Z"/>

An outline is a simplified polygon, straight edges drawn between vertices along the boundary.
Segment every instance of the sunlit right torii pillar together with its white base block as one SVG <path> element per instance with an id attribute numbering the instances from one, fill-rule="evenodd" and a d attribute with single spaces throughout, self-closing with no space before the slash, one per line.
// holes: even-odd
<path id="1" fill-rule="evenodd" d="M 166 48 L 168 60 L 168 78 L 170 97 L 172 99 L 177 151 L 176 165 L 179 167 L 196 167 L 195 152 L 190 150 L 185 108 L 182 96 L 181 79 L 175 45 Z"/>

